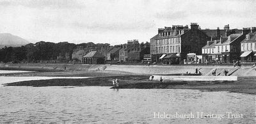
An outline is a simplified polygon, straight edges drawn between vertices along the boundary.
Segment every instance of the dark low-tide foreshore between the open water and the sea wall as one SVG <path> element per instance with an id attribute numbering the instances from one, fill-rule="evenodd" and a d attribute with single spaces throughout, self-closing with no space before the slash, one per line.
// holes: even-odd
<path id="1" fill-rule="evenodd" d="M 0 69 L 17 70 L 16 67 L 0 67 Z M 19 70 L 36 72 L 9 73 L 4 74 L 4 76 L 86 76 L 90 78 L 20 81 L 7 83 L 4 84 L 4 86 L 113 86 L 112 80 L 118 78 L 120 80 L 120 89 L 190 89 L 207 92 L 227 91 L 253 95 L 256 94 L 256 76 L 239 76 L 237 81 L 168 81 L 161 83 L 159 81 L 148 81 L 150 74 L 138 74 L 108 69 L 100 71 L 65 71 L 39 68 L 26 68 L 24 70 L 23 67 L 19 67 Z"/>

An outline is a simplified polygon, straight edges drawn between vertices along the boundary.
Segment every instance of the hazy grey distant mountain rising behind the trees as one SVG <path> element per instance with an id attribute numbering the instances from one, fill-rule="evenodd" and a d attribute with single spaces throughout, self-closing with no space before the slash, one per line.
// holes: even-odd
<path id="1" fill-rule="evenodd" d="M 0 33 L 0 48 L 4 46 L 22 46 L 29 44 L 26 39 L 20 38 L 19 36 L 13 36 L 10 33 Z"/>

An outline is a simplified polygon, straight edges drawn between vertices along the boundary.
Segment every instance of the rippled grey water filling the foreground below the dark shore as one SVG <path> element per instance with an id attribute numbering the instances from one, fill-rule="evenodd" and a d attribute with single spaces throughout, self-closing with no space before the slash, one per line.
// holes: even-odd
<path id="1" fill-rule="evenodd" d="M 0 81 L 20 78 L 1 76 Z M 154 112 L 193 113 L 195 118 L 157 118 L 157 114 L 154 118 Z M 197 112 L 225 117 L 197 118 Z M 228 118 L 227 112 L 243 114 L 243 118 Z M 0 123 L 255 123 L 255 117 L 255 95 L 244 93 L 0 86 Z"/>

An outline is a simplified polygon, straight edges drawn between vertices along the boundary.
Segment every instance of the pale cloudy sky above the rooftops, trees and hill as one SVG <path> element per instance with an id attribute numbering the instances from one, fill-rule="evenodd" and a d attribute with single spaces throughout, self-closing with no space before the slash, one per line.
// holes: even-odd
<path id="1" fill-rule="evenodd" d="M 0 0 L 0 33 L 58 43 L 150 41 L 158 28 L 256 26 L 254 0 Z"/>

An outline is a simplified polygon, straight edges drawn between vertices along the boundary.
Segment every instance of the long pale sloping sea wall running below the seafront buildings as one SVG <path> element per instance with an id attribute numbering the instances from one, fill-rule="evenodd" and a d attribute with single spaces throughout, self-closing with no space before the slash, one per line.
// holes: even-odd
<path id="1" fill-rule="evenodd" d="M 224 76 L 224 70 L 232 76 L 256 76 L 256 68 L 249 65 L 233 67 L 232 65 L 89 65 L 89 64 L 0 64 L 2 67 L 40 68 L 70 71 L 124 71 L 137 74 L 176 74 L 195 73 L 196 68 L 202 75 L 211 75 L 216 70 L 216 75 Z"/>

